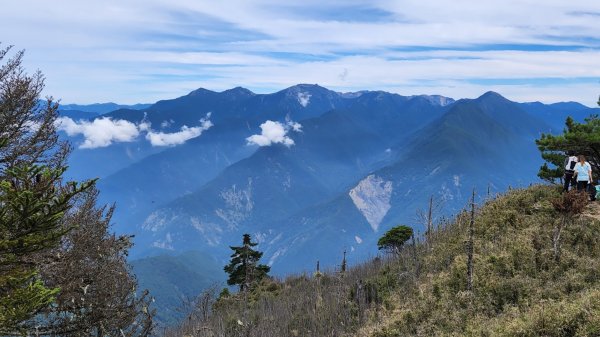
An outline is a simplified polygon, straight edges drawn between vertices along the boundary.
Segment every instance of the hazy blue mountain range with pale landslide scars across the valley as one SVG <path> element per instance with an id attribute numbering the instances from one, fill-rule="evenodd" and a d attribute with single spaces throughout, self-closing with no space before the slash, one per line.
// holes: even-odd
<path id="1" fill-rule="evenodd" d="M 134 262 L 141 283 L 160 288 L 143 268 L 175 263 L 162 256 L 214 261 L 199 264 L 207 277 L 197 281 L 223 280 L 218 266 L 244 233 L 277 275 L 312 270 L 317 261 L 336 268 L 344 255 L 363 260 L 395 225 L 423 233 L 416 210 L 430 197 L 439 217 L 462 209 L 473 189 L 483 198 L 488 189 L 536 182 L 542 160 L 534 140 L 561 132 L 567 116 L 581 121 L 598 110 L 516 103 L 494 92 L 455 101 L 301 84 L 273 94 L 198 89 L 149 106 L 61 115 L 138 130 L 126 142 L 76 149 L 69 174 L 101 178 L 102 200 L 117 204 L 115 230 L 135 235 L 132 259 L 161 261 Z M 165 143 L 190 131 L 200 134 L 169 145 L 149 136 Z M 64 135 L 76 147 L 88 136 Z M 184 288 L 177 278 L 165 282 Z"/>

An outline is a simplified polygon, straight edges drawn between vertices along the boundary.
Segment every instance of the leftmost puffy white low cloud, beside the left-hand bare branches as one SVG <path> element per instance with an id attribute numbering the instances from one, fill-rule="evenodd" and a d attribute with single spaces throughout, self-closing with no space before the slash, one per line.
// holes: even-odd
<path id="1" fill-rule="evenodd" d="M 74 121 L 68 117 L 60 117 L 57 128 L 69 136 L 83 135 L 84 142 L 79 147 L 93 149 L 106 147 L 113 142 L 132 142 L 140 134 L 140 126 L 126 120 L 113 120 L 102 117 L 93 121 Z M 144 124 L 142 124 L 144 125 Z"/>

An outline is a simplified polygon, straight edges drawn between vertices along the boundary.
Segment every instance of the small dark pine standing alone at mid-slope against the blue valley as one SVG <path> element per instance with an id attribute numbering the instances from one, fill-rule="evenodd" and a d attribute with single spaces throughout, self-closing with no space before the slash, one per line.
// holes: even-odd
<path id="1" fill-rule="evenodd" d="M 257 245 L 258 243 L 251 241 L 250 234 L 244 234 L 242 246 L 229 247 L 233 250 L 233 254 L 230 263 L 223 268 L 229 274 L 228 285 L 239 285 L 240 291 L 247 291 L 267 276 L 271 267 L 258 264 L 263 253 L 252 249 Z"/>

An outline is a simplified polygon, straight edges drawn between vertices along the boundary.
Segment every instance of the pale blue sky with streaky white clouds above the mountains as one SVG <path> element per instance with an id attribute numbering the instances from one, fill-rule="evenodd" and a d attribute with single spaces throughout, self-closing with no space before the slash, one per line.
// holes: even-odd
<path id="1" fill-rule="evenodd" d="M 4 0 L 0 32 L 63 103 L 298 83 L 588 106 L 600 94 L 597 0 Z"/>

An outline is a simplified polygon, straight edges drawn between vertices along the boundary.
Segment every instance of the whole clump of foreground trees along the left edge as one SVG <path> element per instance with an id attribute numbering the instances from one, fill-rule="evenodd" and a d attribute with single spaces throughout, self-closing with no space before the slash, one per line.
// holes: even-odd
<path id="1" fill-rule="evenodd" d="M 40 72 L 0 49 L 0 335 L 148 336 L 153 311 L 136 295 L 129 237 L 109 231 L 94 180 L 64 182 L 70 147 L 58 104 L 39 100 Z"/>

